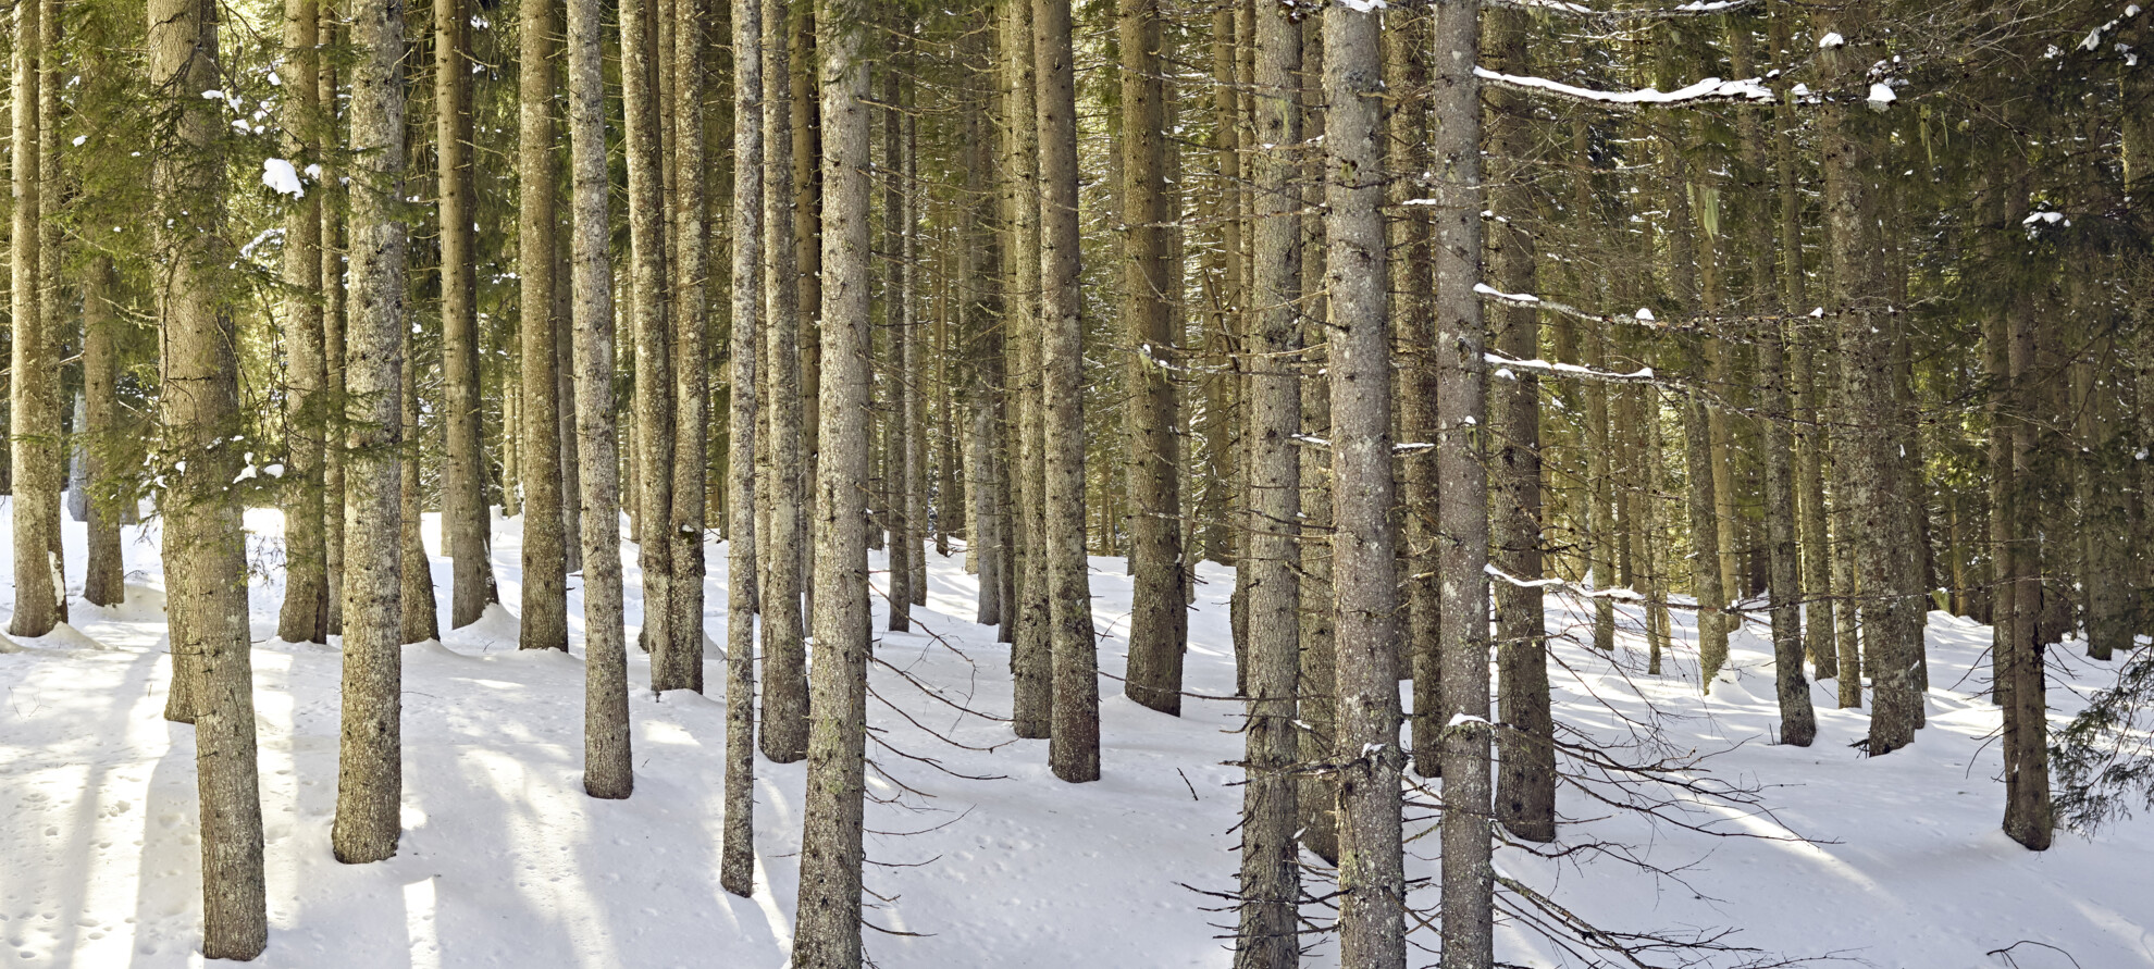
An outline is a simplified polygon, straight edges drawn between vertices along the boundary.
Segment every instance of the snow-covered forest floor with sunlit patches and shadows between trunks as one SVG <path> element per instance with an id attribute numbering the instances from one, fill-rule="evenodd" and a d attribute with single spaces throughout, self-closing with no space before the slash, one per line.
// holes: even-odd
<path id="1" fill-rule="evenodd" d="M 717 887 L 724 661 L 709 696 L 635 687 L 635 795 L 582 792 L 579 594 L 571 655 L 519 652 L 515 618 L 491 609 L 444 642 L 405 648 L 403 842 L 394 859 L 330 857 L 336 801 L 338 652 L 274 640 L 278 515 L 250 512 L 254 678 L 267 829 L 267 967 L 778 967 L 791 939 L 801 764 L 758 758 L 754 898 Z M 429 549 L 435 545 L 429 517 Z M 0 515 L 0 540 L 11 538 Z M 84 532 L 67 523 L 80 588 Z M 0 545 L 4 547 L 4 545 Z M 629 551 L 629 624 L 640 622 Z M 502 599 L 517 601 L 519 521 L 495 523 Z M 881 553 L 875 556 L 877 568 Z M 0 603 L 13 579 L 0 556 Z M 194 734 L 159 713 L 170 680 L 155 528 L 129 530 L 129 601 L 73 603 L 73 624 L 0 655 L 0 965 L 181 967 L 202 960 Z M 433 560 L 446 624 L 448 562 Z M 724 547 L 711 547 L 709 635 L 724 642 Z M 976 627 L 963 556 L 928 556 L 915 631 L 881 633 L 870 668 L 868 954 L 883 969 L 1226 967 L 1241 704 L 1226 599 L 1232 573 L 1202 568 L 1189 620 L 1183 717 L 1103 683 L 1099 784 L 1047 773 L 1045 741 L 1012 741 L 1008 650 Z M 877 577 L 881 584 L 881 575 Z M 1103 672 L 1122 672 L 1129 579 L 1092 560 Z M 1562 838 L 1536 857 L 1497 853 L 1501 874 L 1611 932 L 1706 937 L 1749 952 L 1659 952 L 1650 965 L 1818 958 L 1859 967 L 2154 967 L 2154 823 L 2096 838 L 2059 833 L 2027 853 L 1997 831 L 2003 805 L 1988 629 L 1930 614 L 1930 726 L 1863 758 L 1863 711 L 1814 689 L 1818 743 L 1773 745 L 1773 668 L 1762 627 L 1700 696 L 1689 616 L 1665 672 L 1646 674 L 1626 614 L 1613 657 L 1549 596 L 1557 721 L 1618 762 L 1704 756 L 1695 784 L 1581 780 L 1559 792 Z M 1628 607 L 1626 607 L 1628 609 Z M 883 629 L 877 596 L 877 629 Z M 631 637 L 633 640 L 633 637 Z M 2107 685 L 2113 665 L 2055 650 L 2053 717 Z M 631 650 L 631 685 L 648 661 Z M 982 715 L 961 711 L 978 711 Z M 1734 797 L 1715 797 L 1712 790 Z M 1758 803 L 1745 803 L 1745 790 Z M 1607 799 L 1661 803 L 1661 818 Z M 1409 838 L 1432 812 L 1409 810 Z M 1555 848 L 1555 851 L 1551 851 Z M 1437 870 L 1411 840 L 1409 874 Z M 1320 866 L 1318 861 L 1310 859 Z M 1633 863 L 1637 861 L 1637 863 Z M 1641 868 L 1652 866 L 1654 870 Z M 1320 868 L 1318 868 L 1320 874 Z M 1411 896 L 1437 902 L 1432 885 Z M 1314 885 L 1318 894 L 1327 885 Z M 1514 898 L 1514 896 L 1512 896 Z M 1327 917 L 1310 904 L 1305 913 Z M 887 932 L 885 932 L 887 930 Z M 1734 930 L 1725 935 L 1725 930 Z M 909 932 L 909 935 L 892 935 Z M 1435 960 L 1415 928 L 1413 965 Z M 1312 965 L 1335 965 L 1312 935 Z M 2014 947 L 2016 945 L 2016 947 Z M 2010 950 L 1995 954 L 1995 950 Z M 1590 965 L 1499 915 L 1499 958 Z"/>

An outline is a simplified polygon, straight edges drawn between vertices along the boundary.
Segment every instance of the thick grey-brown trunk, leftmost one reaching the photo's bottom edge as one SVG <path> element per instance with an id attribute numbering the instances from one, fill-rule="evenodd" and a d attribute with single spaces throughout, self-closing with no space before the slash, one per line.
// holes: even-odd
<path id="1" fill-rule="evenodd" d="M 864 0 L 821 0 L 823 401 L 816 474 L 814 680 L 797 969 L 859 969 L 868 754 L 868 30 Z"/>

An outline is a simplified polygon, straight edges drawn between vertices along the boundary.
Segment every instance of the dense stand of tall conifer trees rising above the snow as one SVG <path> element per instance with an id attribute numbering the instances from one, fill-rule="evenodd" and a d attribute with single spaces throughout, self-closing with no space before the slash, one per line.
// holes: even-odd
<path id="1" fill-rule="evenodd" d="M 801 967 L 862 965 L 870 592 L 907 631 L 931 556 L 978 575 L 995 715 L 1062 782 L 1114 771 L 1103 689 L 1183 711 L 1198 564 L 1232 566 L 1236 965 L 1299 958 L 1307 857 L 1344 965 L 1404 965 L 1409 917 L 1493 965 L 1493 844 L 1555 840 L 1568 773 L 1669 775 L 1559 724 L 1551 640 L 1661 674 L 1695 627 L 1710 693 L 1758 631 L 1775 743 L 1814 741 L 1818 680 L 1887 756 L 1921 743 L 1926 616 L 1984 622 L 2003 831 L 2042 851 L 2154 777 L 2150 24 L 24 0 L 9 633 L 121 605 L 123 530 L 159 523 L 213 958 L 267 943 L 250 575 L 282 642 L 342 650 L 340 861 L 396 853 L 403 644 L 437 594 L 450 629 L 500 603 L 523 648 L 582 635 L 590 797 L 633 790 L 631 650 L 726 696 L 726 889 L 758 752 L 808 762 Z M 282 540 L 250 556 L 246 508 Z M 1090 556 L 1127 560 L 1127 629 Z M 709 640 L 707 584 L 760 624 Z M 2053 726 L 2064 642 L 2115 680 Z"/>

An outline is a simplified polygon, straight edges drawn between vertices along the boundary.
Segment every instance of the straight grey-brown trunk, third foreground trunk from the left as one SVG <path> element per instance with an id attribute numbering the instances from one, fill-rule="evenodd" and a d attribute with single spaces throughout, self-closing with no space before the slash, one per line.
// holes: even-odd
<path id="1" fill-rule="evenodd" d="M 620 590 L 620 448 L 614 439 L 614 269 L 607 250 L 603 4 L 569 0 L 569 177 L 575 239 L 575 435 L 584 523 L 584 792 L 635 790 L 629 644 Z"/>

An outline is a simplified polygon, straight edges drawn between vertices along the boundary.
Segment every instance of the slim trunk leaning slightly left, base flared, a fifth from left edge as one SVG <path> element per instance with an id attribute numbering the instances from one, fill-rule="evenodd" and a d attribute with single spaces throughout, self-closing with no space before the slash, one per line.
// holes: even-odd
<path id="1" fill-rule="evenodd" d="M 478 622 L 493 590 L 487 547 L 485 401 L 478 388 L 478 202 L 472 185 L 472 17 L 463 0 L 433 0 L 433 112 L 442 224 L 442 545 L 450 560 L 448 627 Z"/>

